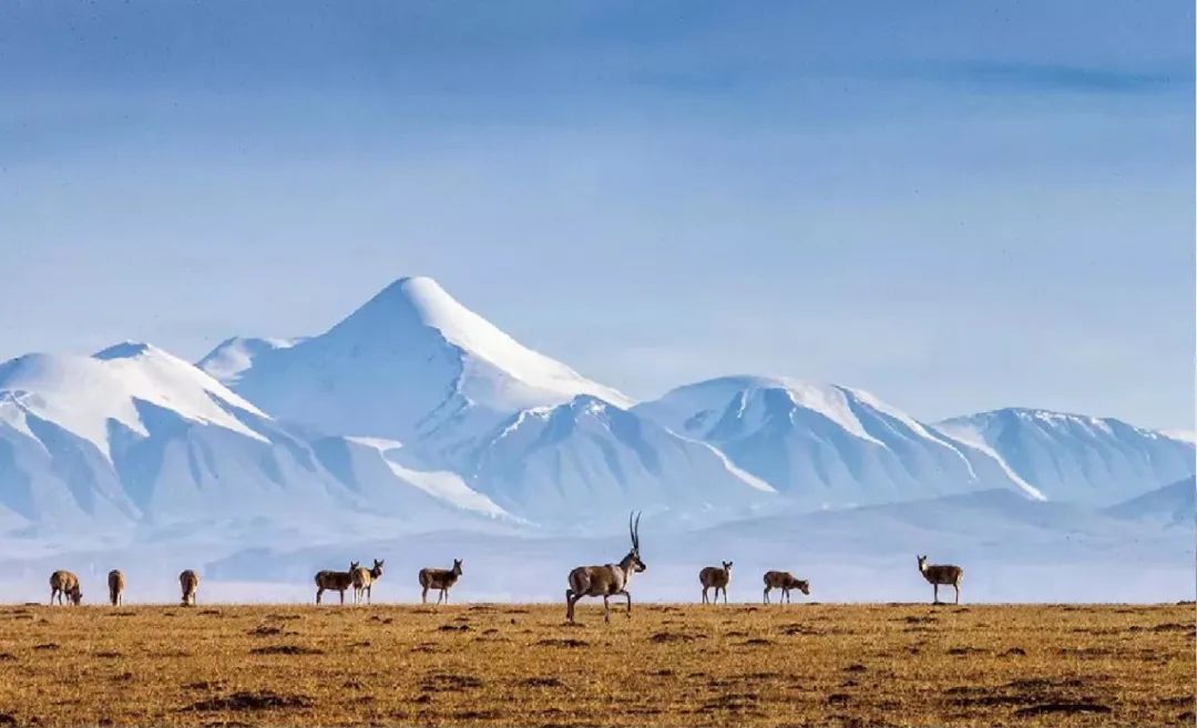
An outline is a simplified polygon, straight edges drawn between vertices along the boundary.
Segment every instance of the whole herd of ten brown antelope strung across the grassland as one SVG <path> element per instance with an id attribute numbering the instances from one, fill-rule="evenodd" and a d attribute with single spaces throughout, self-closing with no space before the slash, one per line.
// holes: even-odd
<path id="1" fill-rule="evenodd" d="M 569 588 L 565 590 L 565 619 L 573 621 L 573 605 L 584 596 L 601 596 L 603 603 L 603 619 L 610 621 L 610 597 L 622 596 L 627 600 L 627 615 L 632 615 L 632 594 L 627 586 L 633 574 L 639 574 L 648 569 L 640 559 L 640 516 L 630 515 L 627 518 L 627 530 L 632 539 L 632 548 L 622 559 L 614 564 L 602 564 L 598 566 L 578 566 L 570 571 L 567 577 Z M 940 602 L 940 587 L 952 587 L 955 590 L 954 603 L 960 603 L 960 581 L 965 570 L 950 564 L 928 564 L 925 556 L 916 557 L 918 571 L 923 578 L 934 588 L 931 603 Z M 350 562 L 348 571 L 318 571 L 316 574 L 316 603 L 321 603 L 324 592 L 336 592 L 340 601 L 345 603 L 345 592 L 353 589 L 353 603 L 370 603 L 371 588 L 375 582 L 382 578 L 383 560 L 375 559 L 373 566 L 366 569 L 358 562 Z M 454 559 L 452 569 L 420 569 L 419 582 L 423 589 L 420 600 L 429 601 L 429 590 L 438 592 L 437 603 L 442 600 L 449 603 L 449 589 L 457 583 L 462 575 L 461 559 Z M 707 597 L 707 592 L 715 589 L 713 603 L 719 601 L 719 592 L 723 592 L 723 603 L 728 603 L 728 583 L 731 582 L 731 562 L 723 562 L 722 566 L 706 566 L 698 572 L 698 581 L 703 586 L 703 603 L 712 603 Z M 187 569 L 178 575 L 178 583 L 183 592 L 183 606 L 195 606 L 195 596 L 200 588 L 200 576 Z M 766 571 L 764 601 L 770 603 L 768 593 L 780 589 L 782 596 L 778 603 L 790 602 L 790 592 L 797 589 L 806 595 L 810 594 L 810 582 L 795 577 L 789 571 Z M 108 572 L 108 596 L 113 606 L 123 601 L 124 574 L 114 569 Z M 57 603 L 63 603 L 66 597 L 72 605 L 83 603 L 83 592 L 79 588 L 79 577 L 71 571 L 59 570 L 50 575 L 50 605 L 57 599 Z"/>

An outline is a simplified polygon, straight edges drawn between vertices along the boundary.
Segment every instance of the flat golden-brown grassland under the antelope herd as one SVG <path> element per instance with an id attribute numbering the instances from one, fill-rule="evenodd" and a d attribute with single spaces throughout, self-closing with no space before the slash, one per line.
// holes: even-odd
<path id="1" fill-rule="evenodd" d="M 0 607 L 0 726 L 1195 722 L 1192 606 L 563 617 L 560 605 Z"/>

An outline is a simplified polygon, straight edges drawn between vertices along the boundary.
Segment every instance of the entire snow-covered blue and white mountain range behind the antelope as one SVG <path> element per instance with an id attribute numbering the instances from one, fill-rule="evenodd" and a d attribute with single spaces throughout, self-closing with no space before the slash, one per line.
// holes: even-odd
<path id="1" fill-rule="evenodd" d="M 1192 442 L 1116 419 L 925 423 L 786 377 L 634 402 L 429 278 L 327 332 L 235 336 L 196 364 L 124 342 L 0 365 L 0 532 L 42 539 L 195 523 L 555 533 L 630 509 L 697 529 L 991 491 L 1134 514 L 1193 459 Z"/>

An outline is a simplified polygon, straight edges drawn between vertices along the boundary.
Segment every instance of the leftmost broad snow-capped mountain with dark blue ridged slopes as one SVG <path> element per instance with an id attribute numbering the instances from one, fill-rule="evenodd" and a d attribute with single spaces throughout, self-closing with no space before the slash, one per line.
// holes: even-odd
<path id="1" fill-rule="evenodd" d="M 320 524 L 353 514 L 458 524 L 466 514 L 504 515 L 478 493 L 467 503 L 430 492 L 415 483 L 423 477 L 361 443 L 309 443 L 145 344 L 0 365 L 0 524 L 8 527 Z"/>

